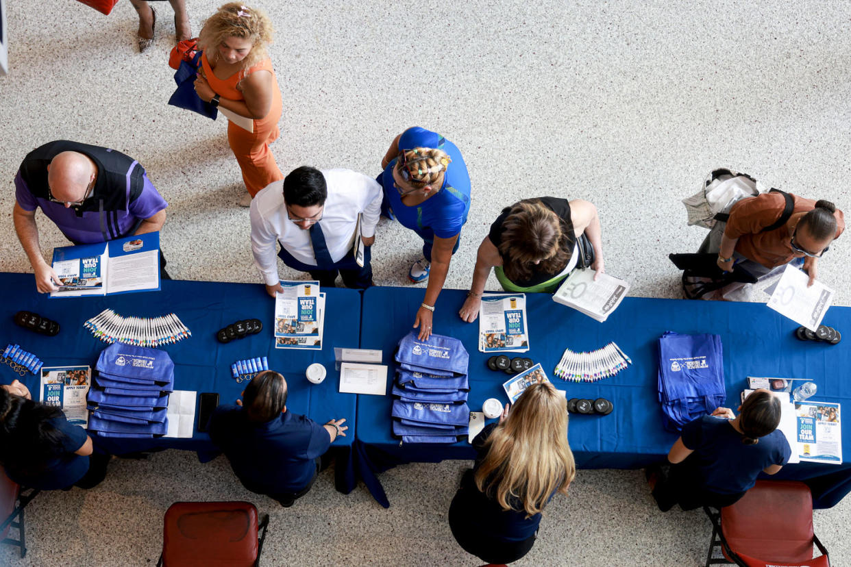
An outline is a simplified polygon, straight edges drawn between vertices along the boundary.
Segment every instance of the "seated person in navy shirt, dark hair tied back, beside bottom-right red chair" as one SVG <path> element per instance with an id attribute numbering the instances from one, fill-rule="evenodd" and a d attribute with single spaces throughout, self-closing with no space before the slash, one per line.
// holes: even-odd
<path id="1" fill-rule="evenodd" d="M 756 484 L 759 473 L 775 474 L 789 461 L 791 448 L 780 425 L 780 400 L 766 389 L 745 398 L 735 416 L 719 407 L 683 425 L 671 447 L 670 471 L 648 468 L 648 481 L 659 509 L 683 510 L 738 502 Z"/>

